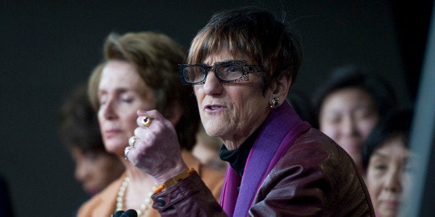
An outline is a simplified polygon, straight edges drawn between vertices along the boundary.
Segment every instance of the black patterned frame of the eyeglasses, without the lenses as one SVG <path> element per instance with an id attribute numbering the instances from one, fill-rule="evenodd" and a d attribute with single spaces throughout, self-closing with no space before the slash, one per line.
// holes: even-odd
<path id="1" fill-rule="evenodd" d="M 220 78 L 219 75 L 217 75 L 217 73 L 216 73 L 216 68 L 218 66 L 223 65 L 223 64 L 238 64 L 238 65 L 242 66 L 243 71 L 242 71 L 242 75 L 240 76 L 240 78 L 229 80 L 229 81 Z M 190 83 L 190 82 L 187 82 L 186 79 L 184 79 L 183 72 L 184 72 L 184 68 L 193 67 L 193 66 L 199 66 L 199 67 L 203 68 L 205 76 L 204 76 L 204 79 L 202 79 L 199 82 Z M 210 71 L 213 71 L 213 73 L 215 73 L 215 76 L 220 83 L 233 83 L 233 82 L 249 81 L 249 73 L 261 73 L 261 72 L 264 72 L 264 70 L 265 69 L 263 68 L 263 66 L 249 65 L 249 64 L 247 64 L 246 60 L 232 60 L 232 61 L 226 61 L 226 62 L 215 62 L 211 66 L 207 66 L 206 64 L 178 64 L 179 79 L 181 81 L 181 84 L 183 84 L 183 85 L 205 84 L 207 75 Z"/>

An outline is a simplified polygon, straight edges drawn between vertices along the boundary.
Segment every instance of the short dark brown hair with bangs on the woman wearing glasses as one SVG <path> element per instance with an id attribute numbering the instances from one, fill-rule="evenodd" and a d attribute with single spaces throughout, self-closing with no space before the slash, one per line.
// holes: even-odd
<path id="1" fill-rule="evenodd" d="M 296 37 L 272 12 L 241 8 L 218 12 L 192 41 L 188 64 L 199 64 L 222 48 L 232 55 L 245 54 L 265 68 L 263 91 L 267 81 L 283 71 L 290 73 L 292 84 L 301 65 L 301 49 Z"/>

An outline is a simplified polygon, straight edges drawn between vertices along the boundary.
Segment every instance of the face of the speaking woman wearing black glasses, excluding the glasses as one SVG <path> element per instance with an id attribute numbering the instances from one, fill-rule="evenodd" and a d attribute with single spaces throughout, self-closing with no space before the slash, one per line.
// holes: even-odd
<path id="1" fill-rule="evenodd" d="M 211 66 L 216 62 L 247 60 L 245 55 L 234 57 L 220 50 L 204 59 Z M 194 86 L 199 115 L 204 129 L 224 141 L 228 149 L 237 149 L 265 121 L 269 113 L 269 89 L 261 91 L 261 73 L 249 73 L 249 81 L 220 83 L 214 73 L 208 73 L 204 84 Z"/>

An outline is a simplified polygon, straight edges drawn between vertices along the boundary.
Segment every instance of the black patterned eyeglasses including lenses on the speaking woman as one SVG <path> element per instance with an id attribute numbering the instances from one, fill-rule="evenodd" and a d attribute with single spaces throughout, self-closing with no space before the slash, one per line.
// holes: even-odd
<path id="1" fill-rule="evenodd" d="M 206 64 L 179 64 L 179 78 L 181 84 L 204 84 L 207 73 L 213 71 L 221 83 L 245 82 L 249 80 L 249 73 L 263 72 L 262 66 L 248 65 L 246 60 L 217 62 L 213 66 Z"/>

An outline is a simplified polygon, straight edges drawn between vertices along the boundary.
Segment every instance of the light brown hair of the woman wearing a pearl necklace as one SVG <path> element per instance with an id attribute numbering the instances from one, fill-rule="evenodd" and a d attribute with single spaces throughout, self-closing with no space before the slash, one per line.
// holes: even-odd
<path id="1" fill-rule="evenodd" d="M 104 45 L 105 62 L 125 60 L 136 68 L 143 82 L 150 86 L 156 99 L 157 111 L 168 117 L 169 106 L 179 102 L 183 115 L 175 129 L 181 147 L 191 150 L 196 142 L 195 132 L 199 113 L 191 86 L 179 82 L 177 64 L 184 62 L 186 53 L 167 35 L 156 32 L 129 32 L 110 34 Z M 89 98 L 96 109 L 101 70 L 94 70 L 89 79 Z"/>

